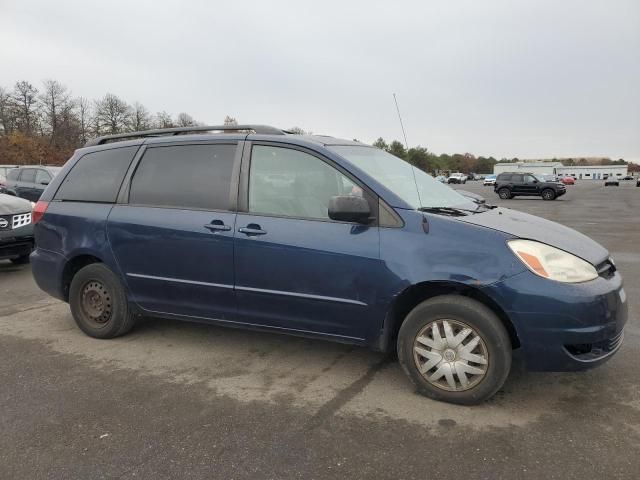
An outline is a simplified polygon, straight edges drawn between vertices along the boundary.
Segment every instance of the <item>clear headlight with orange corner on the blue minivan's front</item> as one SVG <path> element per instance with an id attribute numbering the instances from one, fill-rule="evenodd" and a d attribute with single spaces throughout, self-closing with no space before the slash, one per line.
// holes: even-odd
<path id="1" fill-rule="evenodd" d="M 533 240 L 510 240 L 507 245 L 529 270 L 541 277 L 565 283 L 598 278 L 593 265 L 564 250 Z"/>

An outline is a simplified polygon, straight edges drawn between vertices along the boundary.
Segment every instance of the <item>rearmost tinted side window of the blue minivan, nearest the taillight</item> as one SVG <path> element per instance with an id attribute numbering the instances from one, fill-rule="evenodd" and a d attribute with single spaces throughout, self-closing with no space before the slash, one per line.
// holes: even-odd
<path id="1" fill-rule="evenodd" d="M 60 185 L 55 200 L 114 203 L 138 147 L 87 153 Z"/>

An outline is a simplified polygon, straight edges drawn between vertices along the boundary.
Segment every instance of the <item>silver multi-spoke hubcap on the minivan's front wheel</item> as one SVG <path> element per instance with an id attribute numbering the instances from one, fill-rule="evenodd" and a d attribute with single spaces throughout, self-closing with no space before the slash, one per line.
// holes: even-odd
<path id="1" fill-rule="evenodd" d="M 487 374 L 489 354 L 480 334 L 457 320 L 434 320 L 413 342 L 413 357 L 424 379 L 435 387 L 461 392 Z"/>

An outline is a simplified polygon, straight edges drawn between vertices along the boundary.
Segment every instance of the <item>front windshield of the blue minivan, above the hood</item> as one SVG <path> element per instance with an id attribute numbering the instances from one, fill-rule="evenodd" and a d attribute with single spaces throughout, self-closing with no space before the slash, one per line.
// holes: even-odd
<path id="1" fill-rule="evenodd" d="M 413 208 L 477 208 L 475 203 L 452 188 L 384 150 L 359 145 L 334 145 L 328 148 L 349 160 Z"/>

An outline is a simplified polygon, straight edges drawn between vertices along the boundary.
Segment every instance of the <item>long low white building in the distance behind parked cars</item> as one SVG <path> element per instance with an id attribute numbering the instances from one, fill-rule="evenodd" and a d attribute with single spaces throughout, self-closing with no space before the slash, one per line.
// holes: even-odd
<path id="1" fill-rule="evenodd" d="M 557 175 L 558 177 L 573 177 L 581 180 L 603 180 L 606 177 L 624 177 L 628 175 L 626 165 L 577 165 L 565 167 L 560 162 L 517 162 L 496 163 L 493 173 L 529 172 L 542 175 Z"/>

